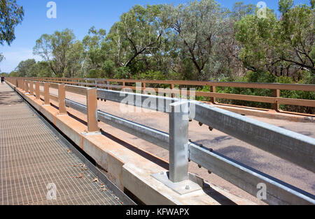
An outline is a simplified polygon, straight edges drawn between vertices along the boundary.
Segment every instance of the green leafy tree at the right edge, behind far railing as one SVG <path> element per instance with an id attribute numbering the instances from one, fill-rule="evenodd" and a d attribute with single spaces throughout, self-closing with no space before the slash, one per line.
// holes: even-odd
<path id="1" fill-rule="evenodd" d="M 293 0 L 280 0 L 279 10 L 282 17 L 277 34 L 282 48 L 276 47 L 276 61 L 286 61 L 315 73 L 315 60 L 311 58 L 315 50 L 314 9 L 307 5 L 293 7 Z"/>

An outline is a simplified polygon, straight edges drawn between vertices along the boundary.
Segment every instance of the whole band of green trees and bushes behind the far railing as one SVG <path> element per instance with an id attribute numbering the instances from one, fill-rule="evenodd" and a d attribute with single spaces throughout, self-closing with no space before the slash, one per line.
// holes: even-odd
<path id="1" fill-rule="evenodd" d="M 215 0 L 135 5 L 109 33 L 91 27 L 83 40 L 76 40 L 70 29 L 43 34 L 34 47 L 43 61 L 22 61 L 11 75 L 315 84 L 314 2 L 307 6 L 279 0 L 279 17 L 269 8 L 266 17 L 258 17 L 258 8 L 243 2 L 235 2 L 231 11 Z M 272 96 L 269 89 L 217 87 L 216 91 Z M 281 91 L 281 96 L 315 99 L 314 92 L 303 91 Z M 281 109 L 311 112 L 283 105 Z"/>

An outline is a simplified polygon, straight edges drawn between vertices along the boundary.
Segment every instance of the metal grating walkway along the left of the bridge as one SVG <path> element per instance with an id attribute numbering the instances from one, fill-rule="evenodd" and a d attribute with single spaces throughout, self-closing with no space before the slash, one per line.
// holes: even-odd
<path id="1" fill-rule="evenodd" d="M 123 204 L 80 163 L 7 84 L 0 84 L 0 204 Z M 57 199 L 47 198 L 49 183 L 55 183 Z"/>

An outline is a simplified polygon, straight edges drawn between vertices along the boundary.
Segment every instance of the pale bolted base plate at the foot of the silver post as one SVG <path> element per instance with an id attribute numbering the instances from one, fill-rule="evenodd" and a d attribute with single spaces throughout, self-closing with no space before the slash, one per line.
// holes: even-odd
<path id="1" fill-rule="evenodd" d="M 158 174 L 152 174 L 151 176 L 161 183 L 164 183 L 165 186 L 172 188 L 172 190 L 179 193 L 179 195 L 184 195 L 202 189 L 200 185 L 190 180 L 173 183 L 169 180 L 169 172 L 160 172 Z"/>

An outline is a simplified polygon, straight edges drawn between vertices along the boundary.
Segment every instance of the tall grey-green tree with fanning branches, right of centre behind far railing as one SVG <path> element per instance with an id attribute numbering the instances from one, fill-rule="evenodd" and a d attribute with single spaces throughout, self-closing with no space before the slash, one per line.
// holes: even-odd
<path id="1" fill-rule="evenodd" d="M 179 39 L 177 46 L 193 61 L 198 80 L 207 77 L 204 73 L 206 64 L 213 66 L 216 62 L 216 51 L 221 50 L 227 15 L 228 11 L 214 0 L 165 6 L 163 20 Z"/>

